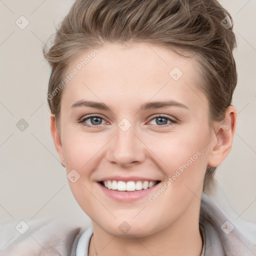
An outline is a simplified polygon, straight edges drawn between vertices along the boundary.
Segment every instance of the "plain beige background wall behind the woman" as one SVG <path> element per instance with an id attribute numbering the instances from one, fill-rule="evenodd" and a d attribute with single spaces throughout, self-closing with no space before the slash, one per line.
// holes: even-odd
<path id="1" fill-rule="evenodd" d="M 46 215 L 88 221 L 68 186 L 50 130 L 46 103 L 50 70 L 42 42 L 72 0 L 0 0 L 0 223 Z M 234 21 L 238 48 L 238 110 L 232 150 L 216 176 L 237 217 L 256 222 L 256 0 L 220 0 Z M 29 24 L 20 29 L 21 16 Z M 16 123 L 24 118 L 28 127 Z"/>

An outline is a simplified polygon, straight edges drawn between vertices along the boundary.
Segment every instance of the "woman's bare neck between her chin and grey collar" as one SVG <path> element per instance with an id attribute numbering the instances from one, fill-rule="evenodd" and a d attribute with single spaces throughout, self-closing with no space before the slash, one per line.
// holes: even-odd
<path id="1" fill-rule="evenodd" d="M 192 209 L 192 213 L 187 210 L 175 222 L 145 237 L 111 235 L 92 221 L 93 235 L 88 256 L 199 256 L 202 249 L 199 210 Z"/>

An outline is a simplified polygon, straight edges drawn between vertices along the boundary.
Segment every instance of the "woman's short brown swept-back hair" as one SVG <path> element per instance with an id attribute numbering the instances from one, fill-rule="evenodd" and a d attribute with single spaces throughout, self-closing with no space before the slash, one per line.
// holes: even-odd
<path id="1" fill-rule="evenodd" d="M 200 68 L 200 89 L 208 99 L 209 120 L 222 120 L 237 83 L 236 47 L 230 14 L 217 0 L 76 0 L 43 54 L 51 66 L 48 95 L 70 62 L 103 42 L 150 42 L 191 53 Z M 230 23 L 230 25 L 228 25 Z M 181 54 L 182 55 L 182 54 Z M 191 57 L 189 56 L 189 57 Z M 47 97 L 58 132 L 61 91 Z M 216 167 L 207 166 L 204 185 Z"/>

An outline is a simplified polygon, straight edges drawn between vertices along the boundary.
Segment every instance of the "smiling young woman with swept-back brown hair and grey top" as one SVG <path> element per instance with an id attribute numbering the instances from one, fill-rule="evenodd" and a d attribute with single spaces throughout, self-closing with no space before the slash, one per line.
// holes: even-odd
<path id="1" fill-rule="evenodd" d="M 235 46 L 216 0 L 75 1 L 44 48 L 47 99 L 92 225 L 40 255 L 256 255 L 203 193 L 232 145 Z"/>

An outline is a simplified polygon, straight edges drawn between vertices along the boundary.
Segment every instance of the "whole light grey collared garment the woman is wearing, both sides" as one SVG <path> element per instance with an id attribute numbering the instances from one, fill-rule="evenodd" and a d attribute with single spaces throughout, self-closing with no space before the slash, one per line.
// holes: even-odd
<path id="1" fill-rule="evenodd" d="M 0 256 L 87 255 L 92 226 L 67 225 L 57 219 L 23 220 L 29 225 L 24 234 L 15 229 L 17 219 L 0 225 Z M 201 256 L 256 256 L 256 238 L 250 241 L 247 237 L 252 236 L 244 235 L 205 193 L 202 193 L 199 223 L 203 227 Z M 78 254 L 79 251 L 83 254 Z"/>

